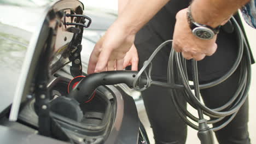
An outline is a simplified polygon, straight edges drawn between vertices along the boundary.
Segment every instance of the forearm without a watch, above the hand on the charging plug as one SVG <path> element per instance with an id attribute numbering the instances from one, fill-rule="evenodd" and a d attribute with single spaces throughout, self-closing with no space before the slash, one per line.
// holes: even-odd
<path id="1" fill-rule="evenodd" d="M 119 0 L 119 16 L 115 23 L 128 34 L 135 34 L 170 0 Z"/>

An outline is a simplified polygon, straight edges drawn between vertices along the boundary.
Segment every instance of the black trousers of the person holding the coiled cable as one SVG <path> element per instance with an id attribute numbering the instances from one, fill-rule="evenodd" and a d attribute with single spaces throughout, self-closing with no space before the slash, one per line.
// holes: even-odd
<path id="1" fill-rule="evenodd" d="M 216 108 L 225 104 L 236 91 L 238 77 L 236 72 L 220 85 L 202 89 L 201 96 L 206 106 Z M 142 96 L 153 129 L 155 144 L 184 144 L 187 124 L 179 117 L 172 103 L 170 89 L 151 86 L 142 92 Z M 182 95 L 174 95 L 174 97 L 182 100 L 185 105 Z M 248 99 L 236 117 L 226 127 L 216 131 L 217 140 L 220 144 L 249 144 L 247 123 Z"/>

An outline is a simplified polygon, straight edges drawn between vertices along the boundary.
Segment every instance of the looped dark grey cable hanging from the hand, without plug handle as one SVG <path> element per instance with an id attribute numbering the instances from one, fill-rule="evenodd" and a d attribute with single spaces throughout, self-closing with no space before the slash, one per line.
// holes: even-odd
<path id="1" fill-rule="evenodd" d="M 229 118 L 225 120 L 225 122 L 220 124 L 218 127 L 211 129 L 213 131 L 217 131 L 225 127 L 230 121 L 232 121 L 237 111 L 240 109 L 243 103 L 245 103 L 248 97 L 249 86 L 251 83 L 251 57 L 248 44 L 245 40 L 245 36 L 243 35 L 240 26 L 238 25 L 234 17 L 231 18 L 231 21 L 234 23 L 235 26 L 235 32 L 238 41 L 238 53 L 234 64 L 225 75 L 215 81 L 199 85 L 197 63 L 193 60 L 192 66 L 194 85 L 189 85 L 186 60 L 181 56 L 181 53 L 174 52 L 174 50 L 172 49 L 168 61 L 167 83 L 152 80 L 150 78 L 150 74 L 146 72 L 146 69 L 150 64 L 150 73 L 152 69 L 151 61 L 153 60 L 155 55 L 162 49 L 162 47 L 172 43 L 172 40 L 167 40 L 159 47 L 157 47 L 157 49 L 153 52 L 152 56 L 149 57 L 148 61 L 144 62 L 142 69 L 136 75 L 135 81 L 133 81 L 133 87 L 136 88 L 138 91 L 143 91 L 144 89 L 147 89 L 150 85 L 171 88 L 172 101 L 174 106 L 176 107 L 179 116 L 184 119 L 185 123 L 187 123 L 190 127 L 196 130 L 199 130 L 199 127 L 191 122 L 188 118 L 190 118 L 192 121 L 199 122 L 200 120 L 204 120 L 203 115 L 207 115 L 211 118 L 210 120 L 206 121 L 207 124 L 214 124 L 222 121 L 225 117 L 229 116 Z M 238 87 L 236 93 L 234 94 L 234 97 L 232 97 L 226 104 L 215 109 L 210 109 L 202 104 L 200 101 L 200 89 L 210 88 L 218 85 L 219 83 L 222 83 L 223 81 L 228 79 L 229 76 L 231 76 L 238 67 L 241 67 L 241 71 L 238 80 Z M 177 71 L 174 71 L 174 69 L 177 69 Z M 142 73 L 146 74 L 148 84 L 143 88 L 139 88 L 138 83 Z M 195 90 L 195 94 L 193 94 L 193 92 L 191 91 L 192 89 Z M 199 118 L 192 115 L 187 110 L 187 107 L 182 105 L 181 102 L 175 97 L 175 95 L 179 95 L 179 93 L 183 93 L 184 99 L 187 101 L 187 103 L 194 107 L 194 109 L 197 109 L 199 113 Z"/>

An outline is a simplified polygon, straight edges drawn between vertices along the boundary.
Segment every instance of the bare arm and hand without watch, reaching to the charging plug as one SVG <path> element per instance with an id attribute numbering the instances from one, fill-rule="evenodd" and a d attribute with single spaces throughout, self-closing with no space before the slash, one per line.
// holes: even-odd
<path id="1" fill-rule="evenodd" d="M 119 3 L 118 19 L 95 45 L 88 74 L 104 70 L 122 70 L 124 57 L 135 34 L 170 0 L 129 0 Z"/>

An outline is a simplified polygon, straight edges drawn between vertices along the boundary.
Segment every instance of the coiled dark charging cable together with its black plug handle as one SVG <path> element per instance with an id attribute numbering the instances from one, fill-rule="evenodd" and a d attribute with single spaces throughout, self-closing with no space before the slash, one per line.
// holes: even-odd
<path id="1" fill-rule="evenodd" d="M 117 83 L 125 83 L 127 86 L 135 88 L 137 91 L 144 91 L 151 85 L 170 88 L 172 92 L 171 99 L 179 116 L 181 116 L 185 123 L 187 123 L 191 128 L 199 130 L 197 135 L 201 143 L 212 144 L 212 132 L 222 129 L 236 116 L 237 111 L 245 103 L 248 97 L 249 86 L 251 83 L 251 55 L 249 52 L 249 47 L 235 18 L 232 17 L 231 21 L 235 26 L 235 33 L 238 41 L 237 58 L 228 73 L 217 80 L 199 85 L 197 62 L 192 60 L 194 85 L 189 85 L 186 60 L 182 58 L 181 53 L 174 52 L 173 49 L 170 52 L 168 61 L 167 83 L 152 80 L 150 76 L 152 70 L 151 62 L 162 47 L 172 43 L 172 40 L 167 40 L 157 47 L 157 49 L 152 53 L 152 56 L 150 56 L 149 59 L 144 62 L 141 70 L 104 71 L 101 73 L 88 75 L 72 89 L 72 91 L 68 94 L 68 98 L 73 98 L 79 103 L 83 103 L 91 98 L 91 94 L 98 86 L 115 85 Z M 200 101 L 200 89 L 210 88 L 222 83 L 236 71 L 238 65 L 241 67 L 240 76 L 238 79 L 238 88 L 228 103 L 216 109 L 210 109 L 202 104 Z M 177 71 L 175 71 L 176 69 Z M 146 75 L 146 79 L 141 77 L 143 73 Z M 140 85 L 144 85 L 144 87 L 141 88 Z M 194 89 L 195 94 L 192 92 L 192 89 Z M 186 107 L 181 104 L 181 101 L 179 101 L 175 96 L 178 95 L 178 93 L 182 93 L 187 103 L 198 111 L 198 117 L 192 115 L 186 109 Z M 207 120 L 204 118 L 204 116 L 209 116 L 210 119 Z M 224 119 L 225 117 L 227 118 Z M 198 124 L 194 124 L 192 121 Z M 217 125 L 216 127 L 208 127 L 208 124 L 214 124 L 217 122 L 220 122 L 221 124 Z"/>

